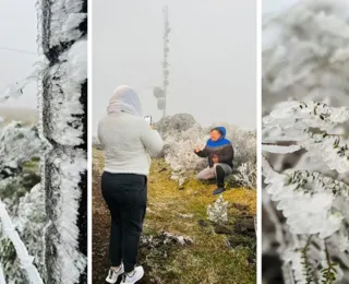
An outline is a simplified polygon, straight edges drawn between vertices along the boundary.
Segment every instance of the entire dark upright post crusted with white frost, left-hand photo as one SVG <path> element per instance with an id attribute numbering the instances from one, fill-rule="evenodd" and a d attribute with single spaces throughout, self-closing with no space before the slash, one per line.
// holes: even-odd
<path id="1" fill-rule="evenodd" d="M 87 283 L 87 0 L 39 0 L 47 283 Z"/>

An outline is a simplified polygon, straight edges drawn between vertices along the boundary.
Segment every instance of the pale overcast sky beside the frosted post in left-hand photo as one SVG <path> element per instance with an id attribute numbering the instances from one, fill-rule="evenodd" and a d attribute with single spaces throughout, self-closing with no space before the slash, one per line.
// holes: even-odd
<path id="1" fill-rule="evenodd" d="M 5 50 L 13 48 L 37 52 L 36 0 L 0 1 L 0 92 L 16 81 L 25 79 L 39 60 L 36 55 Z M 35 108 L 37 106 L 37 85 L 31 83 L 19 99 L 10 99 L 1 107 Z"/>

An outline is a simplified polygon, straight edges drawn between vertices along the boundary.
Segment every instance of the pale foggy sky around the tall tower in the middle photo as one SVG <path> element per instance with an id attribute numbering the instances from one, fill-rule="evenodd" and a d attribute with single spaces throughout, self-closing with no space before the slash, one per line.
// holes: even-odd
<path id="1" fill-rule="evenodd" d="M 93 131 L 112 91 L 128 84 L 156 120 L 161 85 L 163 7 L 169 7 L 168 114 L 201 123 L 256 125 L 255 0 L 93 1 Z"/>

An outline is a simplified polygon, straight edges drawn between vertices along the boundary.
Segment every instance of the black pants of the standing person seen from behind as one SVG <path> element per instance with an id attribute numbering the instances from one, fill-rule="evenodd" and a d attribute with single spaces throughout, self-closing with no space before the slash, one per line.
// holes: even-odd
<path id="1" fill-rule="evenodd" d="M 109 258 L 111 267 L 131 272 L 139 252 L 147 203 L 147 177 L 133 174 L 101 176 L 101 193 L 111 215 Z"/>

